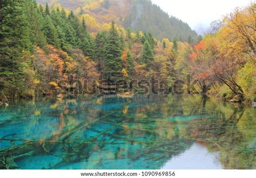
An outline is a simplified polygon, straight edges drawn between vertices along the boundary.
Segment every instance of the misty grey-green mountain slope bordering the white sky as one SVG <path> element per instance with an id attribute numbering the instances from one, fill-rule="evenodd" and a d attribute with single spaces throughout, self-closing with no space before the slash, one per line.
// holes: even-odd
<path id="1" fill-rule="evenodd" d="M 133 1 L 123 25 L 134 31 L 150 31 L 158 39 L 178 37 L 186 40 L 189 36 L 197 37 L 197 33 L 192 31 L 186 23 L 176 17 L 170 17 L 159 6 L 147 0 Z"/>

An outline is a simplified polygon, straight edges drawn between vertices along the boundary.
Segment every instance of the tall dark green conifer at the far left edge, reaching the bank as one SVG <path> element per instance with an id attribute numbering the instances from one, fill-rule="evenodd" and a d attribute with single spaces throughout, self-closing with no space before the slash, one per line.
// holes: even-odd
<path id="1" fill-rule="evenodd" d="M 28 22 L 28 1 L 0 3 L 0 78 L 6 95 L 15 97 L 29 86 L 25 85 L 24 52 L 32 49 Z M 2 89 L 3 89 L 2 88 Z"/>

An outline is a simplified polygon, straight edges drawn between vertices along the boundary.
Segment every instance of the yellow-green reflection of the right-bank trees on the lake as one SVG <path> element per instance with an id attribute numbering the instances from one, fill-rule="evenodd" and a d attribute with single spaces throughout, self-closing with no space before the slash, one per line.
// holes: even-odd
<path id="1" fill-rule="evenodd" d="M 223 103 L 216 104 L 211 119 L 197 119 L 191 122 L 189 130 L 191 130 L 192 137 L 203 143 L 210 151 L 219 152 L 224 168 L 255 169 L 255 130 L 242 128 L 254 134 L 254 137 L 241 133 L 239 130 L 241 120 L 247 120 L 255 125 L 254 114 L 245 116 L 246 108 L 242 104 L 235 106 L 224 103 L 226 108 L 223 108 L 221 104 Z M 250 146 L 253 141 L 254 145 Z"/>

